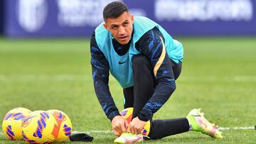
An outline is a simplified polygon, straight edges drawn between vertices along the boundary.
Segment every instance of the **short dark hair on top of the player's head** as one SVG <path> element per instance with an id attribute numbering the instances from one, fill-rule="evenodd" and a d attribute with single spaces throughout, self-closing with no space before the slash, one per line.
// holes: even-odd
<path id="1" fill-rule="evenodd" d="M 127 5 L 121 1 L 113 1 L 110 4 L 107 4 L 103 10 L 103 18 L 106 21 L 107 18 L 117 18 L 124 11 L 129 11 Z"/>

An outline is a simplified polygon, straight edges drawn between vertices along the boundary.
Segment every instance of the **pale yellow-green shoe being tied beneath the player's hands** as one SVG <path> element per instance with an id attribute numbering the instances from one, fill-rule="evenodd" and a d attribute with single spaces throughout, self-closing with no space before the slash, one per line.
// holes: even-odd
<path id="1" fill-rule="evenodd" d="M 115 139 L 114 143 L 141 143 L 144 140 L 143 137 L 142 134 L 136 135 L 130 132 L 125 132 Z"/>

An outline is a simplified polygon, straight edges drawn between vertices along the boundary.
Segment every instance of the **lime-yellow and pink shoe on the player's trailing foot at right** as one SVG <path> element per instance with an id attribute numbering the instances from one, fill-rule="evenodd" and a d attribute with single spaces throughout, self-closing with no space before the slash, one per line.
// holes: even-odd
<path id="1" fill-rule="evenodd" d="M 201 109 L 193 109 L 188 113 L 186 118 L 192 126 L 192 131 L 200 131 L 201 133 L 210 135 L 213 138 L 223 138 L 221 135 L 222 132 L 218 130 L 218 126 L 207 121 L 203 116 Z"/>

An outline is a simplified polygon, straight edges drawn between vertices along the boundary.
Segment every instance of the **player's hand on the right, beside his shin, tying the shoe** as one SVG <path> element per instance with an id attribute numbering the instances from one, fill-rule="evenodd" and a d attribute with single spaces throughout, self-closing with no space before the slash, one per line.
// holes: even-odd
<path id="1" fill-rule="evenodd" d="M 127 128 L 127 131 L 130 131 L 132 134 L 142 133 L 144 126 L 146 125 L 146 121 L 139 120 L 138 116 L 133 118 L 131 123 Z"/>

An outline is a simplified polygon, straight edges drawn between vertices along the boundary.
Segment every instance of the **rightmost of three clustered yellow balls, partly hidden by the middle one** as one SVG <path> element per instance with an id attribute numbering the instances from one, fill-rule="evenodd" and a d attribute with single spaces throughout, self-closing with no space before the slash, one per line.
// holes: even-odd
<path id="1" fill-rule="evenodd" d="M 55 131 L 55 135 L 58 135 L 53 143 L 62 143 L 70 139 L 72 131 L 72 123 L 66 113 L 60 110 L 52 109 L 48 110 L 48 113 L 52 114 L 58 123 L 58 133 Z"/>

